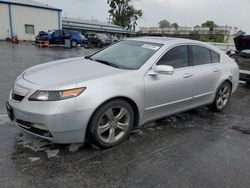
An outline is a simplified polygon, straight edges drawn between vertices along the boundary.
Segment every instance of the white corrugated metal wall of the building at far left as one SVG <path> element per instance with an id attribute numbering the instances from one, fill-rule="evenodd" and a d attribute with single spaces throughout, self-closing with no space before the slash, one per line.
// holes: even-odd
<path id="1" fill-rule="evenodd" d="M 0 40 L 10 37 L 9 5 L 0 3 Z M 39 31 L 59 28 L 57 10 L 10 5 L 12 30 L 19 40 L 33 41 Z M 59 12 L 59 14 L 61 14 Z M 34 34 L 25 33 L 25 24 L 34 25 Z M 60 23 L 61 25 L 61 23 Z M 8 34 L 9 31 L 9 34 Z"/>

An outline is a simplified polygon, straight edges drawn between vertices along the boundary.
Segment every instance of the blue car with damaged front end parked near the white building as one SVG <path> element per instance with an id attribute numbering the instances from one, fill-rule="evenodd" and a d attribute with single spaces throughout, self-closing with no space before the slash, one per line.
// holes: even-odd
<path id="1" fill-rule="evenodd" d="M 39 32 L 36 43 L 48 40 L 50 44 L 65 44 L 65 40 L 70 40 L 71 47 L 81 45 L 87 47 L 88 39 L 76 31 L 53 30 L 49 32 Z"/>

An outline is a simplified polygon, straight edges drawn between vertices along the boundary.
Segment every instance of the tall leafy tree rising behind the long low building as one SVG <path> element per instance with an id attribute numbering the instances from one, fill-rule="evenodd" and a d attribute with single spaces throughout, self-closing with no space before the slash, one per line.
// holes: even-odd
<path id="1" fill-rule="evenodd" d="M 133 0 L 108 0 L 109 14 L 114 24 L 135 30 L 137 20 L 142 17 L 142 10 L 137 10 L 132 5 Z"/>

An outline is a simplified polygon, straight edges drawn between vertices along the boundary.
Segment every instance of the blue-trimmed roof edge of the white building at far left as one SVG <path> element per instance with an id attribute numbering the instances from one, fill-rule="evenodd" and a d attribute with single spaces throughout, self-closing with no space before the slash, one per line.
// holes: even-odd
<path id="1" fill-rule="evenodd" d="M 49 6 L 47 4 L 43 4 L 43 3 L 33 1 L 33 0 L 0 0 L 0 3 L 62 11 L 62 9 L 58 9 L 58 8 Z"/>

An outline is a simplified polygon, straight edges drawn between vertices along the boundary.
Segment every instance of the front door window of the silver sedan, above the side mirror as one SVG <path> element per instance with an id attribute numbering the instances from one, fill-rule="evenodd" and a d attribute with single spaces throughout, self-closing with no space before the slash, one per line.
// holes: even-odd
<path id="1" fill-rule="evenodd" d="M 157 65 L 170 65 L 174 68 L 188 66 L 188 47 L 177 46 L 170 49 L 158 62 Z"/>

